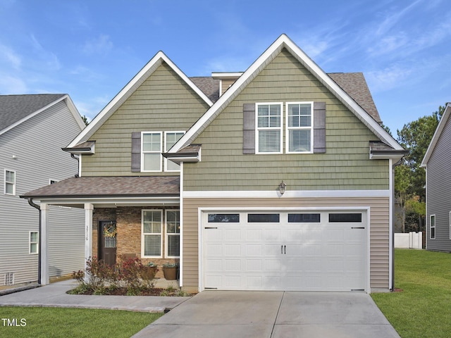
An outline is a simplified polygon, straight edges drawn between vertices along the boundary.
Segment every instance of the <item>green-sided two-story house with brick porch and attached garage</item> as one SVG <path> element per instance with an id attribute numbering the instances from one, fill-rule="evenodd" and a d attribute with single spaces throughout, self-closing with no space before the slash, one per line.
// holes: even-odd
<path id="1" fill-rule="evenodd" d="M 196 291 L 393 287 L 405 151 L 362 73 L 286 35 L 243 73 L 189 78 L 159 52 L 64 150 L 79 177 L 24 197 L 84 208 L 86 257 L 177 261 Z"/>

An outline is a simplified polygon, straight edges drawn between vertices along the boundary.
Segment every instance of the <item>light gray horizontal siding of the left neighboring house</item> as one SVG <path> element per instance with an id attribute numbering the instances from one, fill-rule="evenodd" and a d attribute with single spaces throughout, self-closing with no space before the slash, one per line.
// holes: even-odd
<path id="1" fill-rule="evenodd" d="M 38 256 L 28 253 L 28 236 L 38 230 L 39 213 L 19 196 L 49 184 L 49 180 L 63 180 L 77 173 L 77 161 L 61 148 L 79 132 L 62 101 L 0 136 L 0 285 L 8 272 L 14 273 L 16 284 L 37 280 Z M 16 171 L 15 196 L 4 194 L 5 168 Z M 51 277 L 83 267 L 83 224 L 81 210 L 58 208 L 51 215 Z M 75 254 L 78 251 L 81 257 Z"/>

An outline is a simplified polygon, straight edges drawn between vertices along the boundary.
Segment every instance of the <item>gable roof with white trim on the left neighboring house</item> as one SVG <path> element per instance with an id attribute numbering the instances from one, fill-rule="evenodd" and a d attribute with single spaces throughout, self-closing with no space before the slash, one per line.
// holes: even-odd
<path id="1" fill-rule="evenodd" d="M 68 94 L 0 95 L 0 135 L 63 100 L 80 128 L 85 127 Z"/>

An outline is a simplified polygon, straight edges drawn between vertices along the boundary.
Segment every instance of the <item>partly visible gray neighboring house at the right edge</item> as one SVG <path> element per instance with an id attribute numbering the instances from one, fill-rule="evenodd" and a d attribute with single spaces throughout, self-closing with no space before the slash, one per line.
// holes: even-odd
<path id="1" fill-rule="evenodd" d="M 451 104 L 424 155 L 426 168 L 426 249 L 451 252 Z"/>

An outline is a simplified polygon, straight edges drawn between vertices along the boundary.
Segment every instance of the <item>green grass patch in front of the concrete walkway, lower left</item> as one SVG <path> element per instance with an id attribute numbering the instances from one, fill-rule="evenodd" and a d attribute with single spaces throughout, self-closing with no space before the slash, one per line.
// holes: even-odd
<path id="1" fill-rule="evenodd" d="M 163 313 L 85 308 L 0 307 L 0 337 L 130 337 Z M 1 318 L 25 319 L 8 326 Z M 10 322 L 11 323 L 11 322 Z"/>

